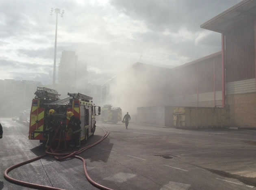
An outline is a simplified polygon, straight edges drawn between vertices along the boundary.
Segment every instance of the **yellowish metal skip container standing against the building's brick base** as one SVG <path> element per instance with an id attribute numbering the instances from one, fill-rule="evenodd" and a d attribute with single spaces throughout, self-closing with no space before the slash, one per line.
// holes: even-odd
<path id="1" fill-rule="evenodd" d="M 173 122 L 179 129 L 230 127 L 229 108 L 174 107 Z"/>

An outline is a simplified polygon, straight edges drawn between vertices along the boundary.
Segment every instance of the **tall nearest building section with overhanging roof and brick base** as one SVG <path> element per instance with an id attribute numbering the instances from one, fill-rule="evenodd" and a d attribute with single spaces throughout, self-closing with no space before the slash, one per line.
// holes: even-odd
<path id="1" fill-rule="evenodd" d="M 256 127 L 256 1 L 243 0 L 201 25 L 221 33 L 222 106 L 230 125 Z"/>

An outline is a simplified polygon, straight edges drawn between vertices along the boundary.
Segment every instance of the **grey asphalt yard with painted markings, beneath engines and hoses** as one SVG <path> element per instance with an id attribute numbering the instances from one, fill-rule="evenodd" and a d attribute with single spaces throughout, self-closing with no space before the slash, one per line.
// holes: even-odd
<path id="1" fill-rule="evenodd" d="M 4 170 L 43 154 L 28 140 L 28 127 L 0 118 L 0 190 L 29 189 L 6 181 Z M 256 131 L 225 129 L 191 131 L 130 123 L 103 124 L 107 139 L 81 154 L 89 175 L 115 190 L 256 189 Z M 101 138 L 97 128 L 88 144 Z M 68 190 L 94 188 L 78 159 L 58 162 L 48 156 L 10 172 L 15 179 Z"/>

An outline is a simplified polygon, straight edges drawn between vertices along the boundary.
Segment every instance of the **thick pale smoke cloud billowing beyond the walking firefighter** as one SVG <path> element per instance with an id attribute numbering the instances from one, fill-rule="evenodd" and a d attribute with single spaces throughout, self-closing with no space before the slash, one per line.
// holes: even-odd
<path id="1" fill-rule="evenodd" d="M 135 63 L 102 85 L 103 102 L 121 107 L 123 113 L 137 113 L 137 107 L 164 105 L 168 68 Z M 107 90 L 108 89 L 108 90 Z"/>

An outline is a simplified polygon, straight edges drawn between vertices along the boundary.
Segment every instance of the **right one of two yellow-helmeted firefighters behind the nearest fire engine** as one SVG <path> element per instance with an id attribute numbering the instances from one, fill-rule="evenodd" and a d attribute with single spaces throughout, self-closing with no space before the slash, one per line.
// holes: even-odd
<path id="1" fill-rule="evenodd" d="M 74 147 L 76 146 L 77 148 L 80 147 L 80 132 L 82 131 L 81 129 L 81 121 L 79 118 L 74 116 L 73 112 L 67 112 L 67 116 L 70 118 L 68 125 L 67 125 L 67 130 L 72 129 L 72 135 L 71 135 L 71 143 L 70 146 Z"/>

